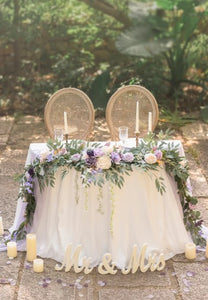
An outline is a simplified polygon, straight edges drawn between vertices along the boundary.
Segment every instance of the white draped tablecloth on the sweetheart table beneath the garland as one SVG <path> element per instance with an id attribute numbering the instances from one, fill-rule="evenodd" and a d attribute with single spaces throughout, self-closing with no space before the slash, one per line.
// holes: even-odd
<path id="1" fill-rule="evenodd" d="M 183 155 L 180 141 L 174 141 L 174 144 L 179 144 Z M 128 146 L 131 145 L 129 140 Z M 45 148 L 46 144 L 31 144 L 26 164 Z M 100 199 L 102 214 L 98 211 L 98 187 L 92 185 L 87 190 L 86 202 L 80 173 L 77 176 L 72 169 L 62 180 L 57 172 L 54 188 L 47 187 L 42 194 L 38 187 L 35 191 L 37 206 L 30 232 L 37 235 L 38 255 L 62 262 L 69 243 L 74 248 L 82 244 L 81 260 L 84 256 L 91 257 L 92 266 L 95 266 L 106 252 L 110 252 L 116 266 L 123 268 L 127 266 L 135 244 L 141 249 L 147 243 L 147 255 L 163 252 L 165 259 L 183 253 L 191 238 L 184 227 L 176 183 L 164 169 L 156 174 L 164 178 L 166 192 L 163 195 L 156 189 L 152 172 L 135 169 L 130 176 L 125 176 L 122 189 L 113 186 L 113 197 L 112 186 L 107 182 Z M 110 199 L 115 203 L 112 221 Z M 22 222 L 24 208 L 25 203 L 19 199 L 11 232 Z"/>

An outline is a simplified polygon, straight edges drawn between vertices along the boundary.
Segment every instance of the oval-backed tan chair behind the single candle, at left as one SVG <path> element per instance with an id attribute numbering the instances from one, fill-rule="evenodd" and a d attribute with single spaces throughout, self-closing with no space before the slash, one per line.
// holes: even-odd
<path id="1" fill-rule="evenodd" d="M 89 97 L 79 89 L 63 88 L 48 100 L 44 121 L 51 137 L 55 128 L 64 130 L 67 113 L 69 139 L 87 139 L 94 126 L 94 107 Z"/>

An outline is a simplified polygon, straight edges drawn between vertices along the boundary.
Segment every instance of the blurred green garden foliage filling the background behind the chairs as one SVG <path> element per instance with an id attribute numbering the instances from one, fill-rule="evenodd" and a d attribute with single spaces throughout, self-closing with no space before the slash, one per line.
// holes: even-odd
<path id="1" fill-rule="evenodd" d="M 63 87 L 96 108 L 141 84 L 161 111 L 193 111 L 208 97 L 208 1 L 0 0 L 0 114 L 43 114 Z"/>

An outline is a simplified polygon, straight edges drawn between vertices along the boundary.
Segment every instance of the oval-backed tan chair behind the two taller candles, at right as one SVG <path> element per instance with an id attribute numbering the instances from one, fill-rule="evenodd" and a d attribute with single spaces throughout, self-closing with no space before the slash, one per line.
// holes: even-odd
<path id="1" fill-rule="evenodd" d="M 152 112 L 152 131 L 158 122 L 158 105 L 154 96 L 139 85 L 128 85 L 118 89 L 109 99 L 106 107 L 106 121 L 111 138 L 118 140 L 121 126 L 129 128 L 128 136 L 135 137 L 136 103 L 139 103 L 139 137 L 148 132 L 149 112 Z"/>

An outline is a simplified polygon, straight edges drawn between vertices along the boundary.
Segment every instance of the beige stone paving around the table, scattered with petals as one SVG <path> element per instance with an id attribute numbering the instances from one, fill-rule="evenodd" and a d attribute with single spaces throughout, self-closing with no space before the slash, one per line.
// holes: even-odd
<path id="1" fill-rule="evenodd" d="M 109 133 L 102 119 L 97 119 L 95 140 L 108 139 Z M 98 130 L 99 127 L 99 130 Z M 177 136 L 183 141 L 190 165 L 193 194 L 198 197 L 198 208 L 208 226 L 208 124 L 200 121 L 186 125 Z M 46 142 L 47 131 L 42 118 L 23 116 L 0 118 L 0 215 L 7 230 L 13 223 L 18 184 L 14 180 L 21 173 L 31 142 Z M 32 271 L 25 253 L 9 260 L 0 253 L 0 299 L 88 299 L 88 300 L 202 300 L 208 299 L 208 260 L 204 253 L 194 261 L 176 255 L 166 262 L 161 272 L 100 275 L 93 270 L 89 275 L 73 271 L 55 271 L 55 261 L 44 259 L 41 274 Z"/>

